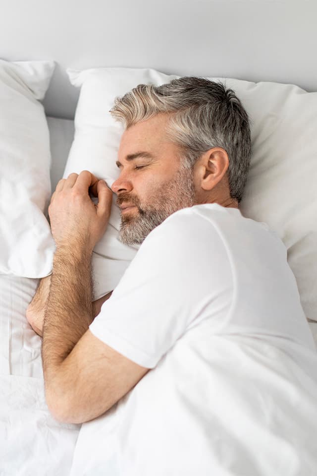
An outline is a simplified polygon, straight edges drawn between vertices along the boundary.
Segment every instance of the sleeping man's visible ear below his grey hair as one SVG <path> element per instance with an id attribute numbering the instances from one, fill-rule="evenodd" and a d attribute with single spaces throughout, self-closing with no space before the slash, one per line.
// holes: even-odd
<path id="1" fill-rule="evenodd" d="M 204 190 L 211 190 L 223 178 L 228 167 L 229 157 L 224 149 L 221 147 L 209 149 L 196 164 L 196 184 Z"/>

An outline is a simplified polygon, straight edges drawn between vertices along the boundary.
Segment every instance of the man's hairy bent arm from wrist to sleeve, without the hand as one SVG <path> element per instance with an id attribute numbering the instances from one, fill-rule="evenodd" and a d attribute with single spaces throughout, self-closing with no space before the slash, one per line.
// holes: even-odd
<path id="1" fill-rule="evenodd" d="M 102 415 L 148 372 L 90 332 L 91 284 L 91 256 L 85 248 L 57 248 L 42 359 L 48 408 L 68 423 Z"/>

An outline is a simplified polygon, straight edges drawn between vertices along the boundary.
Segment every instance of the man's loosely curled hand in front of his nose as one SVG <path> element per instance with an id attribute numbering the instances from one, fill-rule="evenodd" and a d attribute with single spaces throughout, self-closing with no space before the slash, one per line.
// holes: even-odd
<path id="1" fill-rule="evenodd" d="M 90 198 L 89 190 L 98 197 L 98 205 Z M 56 247 L 66 245 L 92 252 L 106 231 L 111 203 L 112 190 L 87 170 L 59 180 L 48 209 Z"/>

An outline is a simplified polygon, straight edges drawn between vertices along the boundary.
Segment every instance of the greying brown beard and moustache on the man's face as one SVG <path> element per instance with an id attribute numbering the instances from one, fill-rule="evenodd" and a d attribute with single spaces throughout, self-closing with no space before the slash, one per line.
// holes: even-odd
<path id="1" fill-rule="evenodd" d="M 193 169 L 181 168 L 173 179 L 153 190 L 148 198 L 151 205 L 140 206 L 135 197 L 132 203 L 138 211 L 134 209 L 131 215 L 126 212 L 121 216 L 119 241 L 129 245 L 141 244 L 172 213 L 193 206 L 196 198 L 193 173 Z M 125 201 L 131 203 L 128 194 L 121 193 L 119 203 Z"/>

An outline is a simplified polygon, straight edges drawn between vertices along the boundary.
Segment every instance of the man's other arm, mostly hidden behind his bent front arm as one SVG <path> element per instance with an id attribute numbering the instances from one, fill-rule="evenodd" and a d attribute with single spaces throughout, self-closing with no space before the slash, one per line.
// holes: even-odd
<path id="1" fill-rule="evenodd" d="M 29 324 L 31 325 L 33 330 L 41 337 L 43 337 L 44 313 L 50 293 L 51 282 L 52 275 L 46 276 L 45 278 L 42 278 L 40 280 L 36 293 L 26 310 L 26 318 Z M 92 302 L 94 318 L 98 316 L 101 310 L 101 306 L 107 299 L 109 299 L 111 294 L 112 291 L 106 294 L 106 296 L 100 297 L 96 301 Z"/>

